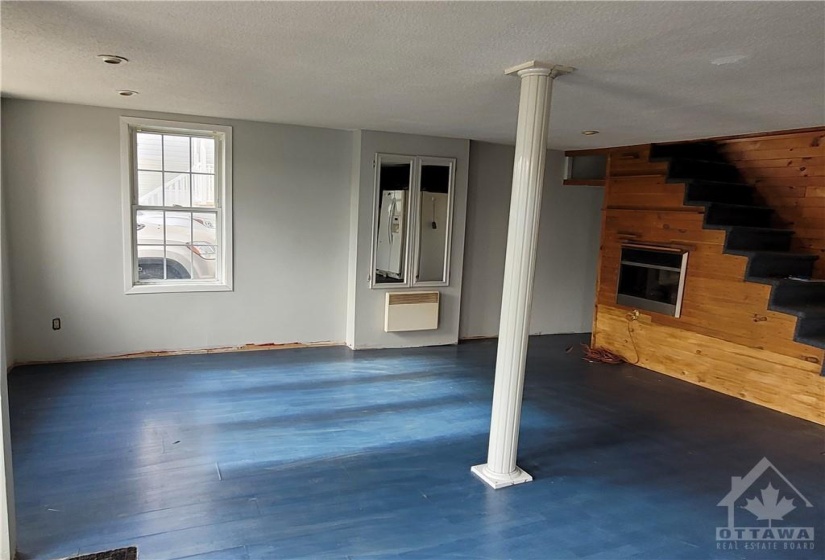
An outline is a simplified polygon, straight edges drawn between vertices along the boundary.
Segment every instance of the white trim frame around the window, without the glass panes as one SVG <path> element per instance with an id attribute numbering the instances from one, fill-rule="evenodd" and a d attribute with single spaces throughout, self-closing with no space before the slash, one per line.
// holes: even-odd
<path id="1" fill-rule="evenodd" d="M 173 280 L 141 283 L 137 280 L 137 256 L 135 225 L 132 221 L 136 203 L 135 145 L 133 131 L 147 129 L 156 132 L 212 132 L 217 133 L 218 157 L 215 161 L 218 188 L 219 224 L 218 244 L 221 261 L 217 280 Z M 231 292 L 232 270 L 232 127 L 216 124 L 200 124 L 181 121 L 164 121 L 139 117 L 120 117 L 120 173 L 123 226 L 123 279 L 126 294 L 150 294 L 170 292 Z"/>

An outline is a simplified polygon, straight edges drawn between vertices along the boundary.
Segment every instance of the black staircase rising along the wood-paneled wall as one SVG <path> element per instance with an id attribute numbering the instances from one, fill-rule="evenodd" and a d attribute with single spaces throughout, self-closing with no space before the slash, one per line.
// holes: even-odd
<path id="1" fill-rule="evenodd" d="M 818 257 L 790 251 L 793 230 L 773 227 L 773 209 L 756 202 L 719 147 L 658 144 L 650 160 L 668 163 L 667 181 L 685 185 L 685 205 L 705 208 L 705 229 L 726 232 L 725 253 L 748 258 L 745 281 L 771 286 L 768 309 L 797 317 L 794 340 L 825 348 L 825 280 L 811 278 Z"/>

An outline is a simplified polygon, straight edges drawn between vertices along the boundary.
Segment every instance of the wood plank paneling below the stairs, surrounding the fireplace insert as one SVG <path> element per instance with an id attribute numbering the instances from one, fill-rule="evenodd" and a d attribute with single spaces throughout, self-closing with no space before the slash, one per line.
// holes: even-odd
<path id="1" fill-rule="evenodd" d="M 774 156 L 782 149 L 745 149 L 755 145 L 746 142 L 758 141 L 738 144 L 739 153 L 751 156 L 746 161 L 760 161 L 756 152 Z M 723 254 L 724 232 L 703 229 L 703 208 L 683 204 L 684 185 L 666 183 L 666 164 L 649 162 L 649 151 L 650 146 L 609 150 L 593 345 L 648 369 L 825 424 L 825 378 L 819 375 L 825 351 L 793 341 L 796 318 L 767 309 L 770 287 L 744 281 L 746 258 Z M 770 188 L 764 182 L 762 187 Z M 804 187 L 806 194 L 807 187 L 816 189 Z M 811 195 L 822 198 L 816 190 Z M 816 206 L 788 207 L 801 212 Z M 825 246 L 820 230 L 812 231 L 808 243 Z M 679 319 L 642 311 L 633 320 L 632 308 L 616 303 L 620 248 L 627 241 L 690 250 Z"/>

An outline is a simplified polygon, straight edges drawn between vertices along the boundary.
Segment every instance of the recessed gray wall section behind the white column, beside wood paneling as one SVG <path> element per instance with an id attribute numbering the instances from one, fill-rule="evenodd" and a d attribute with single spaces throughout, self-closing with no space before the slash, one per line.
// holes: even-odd
<path id="1" fill-rule="evenodd" d="M 497 336 L 515 148 L 470 143 L 461 338 Z M 564 154 L 547 152 L 532 334 L 590 332 L 603 189 L 562 185 Z"/>

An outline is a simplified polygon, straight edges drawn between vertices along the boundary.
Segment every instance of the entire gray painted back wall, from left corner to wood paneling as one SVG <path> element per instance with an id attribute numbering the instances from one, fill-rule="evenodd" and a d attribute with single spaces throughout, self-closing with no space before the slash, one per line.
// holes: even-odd
<path id="1" fill-rule="evenodd" d="M 234 292 L 123 293 L 122 114 L 234 127 Z M 246 343 L 417 346 L 497 334 L 511 146 L 23 100 L 3 100 L 3 117 L 2 132 L 14 139 L 3 158 L 13 208 L 10 350 L 19 362 Z M 366 284 L 376 151 L 458 158 L 452 285 L 439 332 L 383 333 L 384 291 Z M 549 152 L 534 333 L 590 329 L 602 193 L 562 187 L 561 164 Z M 62 330 L 51 330 L 53 317 Z"/>

